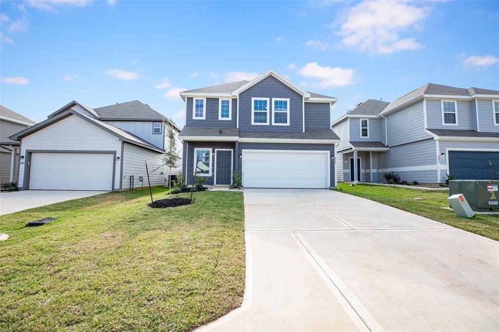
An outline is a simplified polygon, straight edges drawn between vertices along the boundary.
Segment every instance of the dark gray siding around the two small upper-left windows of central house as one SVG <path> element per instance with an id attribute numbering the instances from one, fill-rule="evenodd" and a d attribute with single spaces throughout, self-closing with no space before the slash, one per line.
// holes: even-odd
<path id="1" fill-rule="evenodd" d="M 187 126 L 236 128 L 238 114 L 238 100 L 236 98 L 232 99 L 231 120 L 219 120 L 219 98 L 206 98 L 205 120 L 192 118 L 192 104 L 193 98 L 186 98 Z"/>

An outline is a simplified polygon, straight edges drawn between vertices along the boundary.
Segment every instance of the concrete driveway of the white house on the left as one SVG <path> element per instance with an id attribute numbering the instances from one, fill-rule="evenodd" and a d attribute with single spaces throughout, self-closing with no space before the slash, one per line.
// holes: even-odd
<path id="1" fill-rule="evenodd" d="M 98 195 L 108 191 L 20 190 L 0 193 L 0 215 L 66 200 Z"/>

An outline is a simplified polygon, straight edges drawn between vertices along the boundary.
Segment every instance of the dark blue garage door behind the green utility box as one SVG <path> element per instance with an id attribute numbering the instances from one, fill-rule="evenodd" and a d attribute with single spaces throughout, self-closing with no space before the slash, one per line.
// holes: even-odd
<path id="1" fill-rule="evenodd" d="M 489 161 L 499 172 L 499 152 L 449 151 L 449 171 L 459 180 L 494 179 Z"/>

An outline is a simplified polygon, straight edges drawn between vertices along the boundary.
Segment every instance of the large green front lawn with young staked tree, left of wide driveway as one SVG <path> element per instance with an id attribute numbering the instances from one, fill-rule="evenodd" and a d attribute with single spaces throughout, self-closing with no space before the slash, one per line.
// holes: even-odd
<path id="1" fill-rule="evenodd" d="M 112 192 L 0 216 L 0 330 L 187 331 L 240 306 L 243 194 L 194 198 L 152 209 L 149 191 Z"/>

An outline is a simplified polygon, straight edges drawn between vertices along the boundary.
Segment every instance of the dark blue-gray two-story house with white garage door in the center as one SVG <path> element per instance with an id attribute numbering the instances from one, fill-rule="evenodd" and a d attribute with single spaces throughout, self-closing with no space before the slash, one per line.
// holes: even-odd
<path id="1" fill-rule="evenodd" d="M 205 184 L 328 188 L 336 185 L 338 137 L 330 128 L 336 98 L 307 92 L 269 70 L 252 81 L 184 91 L 186 123 L 182 171 Z"/>

